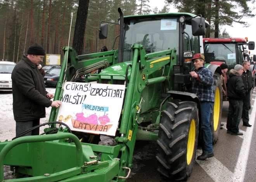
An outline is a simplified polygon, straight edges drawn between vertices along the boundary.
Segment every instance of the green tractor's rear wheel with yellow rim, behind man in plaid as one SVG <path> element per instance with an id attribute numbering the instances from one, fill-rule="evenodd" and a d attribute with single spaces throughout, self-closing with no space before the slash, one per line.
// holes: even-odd
<path id="1" fill-rule="evenodd" d="M 214 104 L 211 108 L 210 116 L 210 127 L 212 134 L 213 145 L 216 144 L 219 134 L 220 134 L 220 124 L 221 124 L 221 115 L 222 115 L 222 84 L 221 77 L 219 73 L 214 73 L 213 75 L 213 93 L 214 93 Z"/>

